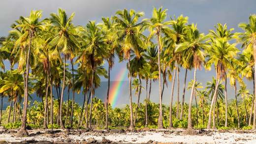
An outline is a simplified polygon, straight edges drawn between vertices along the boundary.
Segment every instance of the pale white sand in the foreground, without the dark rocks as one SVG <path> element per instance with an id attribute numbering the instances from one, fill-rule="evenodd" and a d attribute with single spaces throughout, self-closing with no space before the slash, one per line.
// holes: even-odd
<path id="1" fill-rule="evenodd" d="M 31 130 L 30 133 L 37 131 L 43 132 L 44 130 Z M 165 130 L 166 131 L 166 130 Z M 70 139 L 72 142 L 85 142 L 89 138 L 94 138 L 98 142 L 101 142 L 104 137 L 107 140 L 116 143 L 147 143 L 149 140 L 158 143 L 187 143 L 187 144 L 256 144 L 255 133 L 235 133 L 235 132 L 214 132 L 212 136 L 207 135 L 179 135 L 175 133 L 164 133 L 158 131 L 147 131 L 138 133 L 118 133 L 118 134 L 99 134 L 95 132 L 82 133 L 81 135 L 67 135 L 63 133 L 57 133 L 57 137 L 52 137 L 51 134 L 41 134 L 32 137 L 17 138 L 15 134 L 0 134 L 0 141 L 6 142 L 21 142 L 28 140 L 35 141 L 50 141 L 50 142 L 61 142 L 62 140 Z M 178 130 L 177 130 L 178 131 Z M 180 131 L 180 130 L 179 130 Z"/>

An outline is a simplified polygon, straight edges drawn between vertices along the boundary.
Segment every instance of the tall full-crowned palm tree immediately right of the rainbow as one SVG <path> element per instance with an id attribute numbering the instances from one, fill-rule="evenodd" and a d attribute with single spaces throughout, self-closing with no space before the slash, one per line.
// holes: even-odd
<path id="1" fill-rule="evenodd" d="M 121 53 L 123 57 L 128 59 L 128 77 L 129 77 L 129 108 L 130 108 L 130 129 L 134 129 L 133 116 L 132 116 L 132 99 L 131 99 L 131 69 L 130 69 L 130 56 L 133 52 L 137 57 L 140 56 L 140 49 L 144 48 L 142 41 L 141 25 L 138 19 L 144 15 L 143 12 L 135 12 L 133 9 L 119 10 L 116 12 L 114 20 L 117 23 L 117 35 L 121 45 Z"/>

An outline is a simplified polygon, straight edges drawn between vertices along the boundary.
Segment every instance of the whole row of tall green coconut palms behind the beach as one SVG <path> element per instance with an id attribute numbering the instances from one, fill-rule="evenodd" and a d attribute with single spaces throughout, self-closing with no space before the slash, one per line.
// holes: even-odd
<path id="1" fill-rule="evenodd" d="M 102 22 L 96 24 L 89 21 L 86 26 L 75 26 L 72 23 L 74 13 L 67 16 L 63 9 L 58 13 L 51 13 L 49 18 L 41 19 L 42 12 L 32 10 L 27 17 L 21 16 L 14 24 L 8 36 L 0 38 L 0 66 L 4 69 L 3 60 L 10 62 L 10 70 L 1 72 L 0 95 L 1 98 L 9 98 L 9 116 L 12 103 L 14 103 L 13 117 L 16 115 L 16 107 L 22 97 L 23 111 L 19 115 L 22 119 L 18 136 L 28 135 L 26 130 L 28 120 L 28 98 L 36 93 L 42 98 L 44 115 L 43 127 L 54 123 L 65 129 L 68 123 L 73 127 L 73 121 L 77 121 L 74 115 L 75 93 L 82 92 L 84 102 L 80 118 L 86 117 L 86 128 L 92 129 L 95 89 L 100 86 L 100 77 L 108 78 L 106 94 L 105 128 L 109 128 L 109 88 L 110 72 L 114 66 L 114 58 L 119 61 L 127 61 L 129 79 L 129 129 L 134 129 L 137 121 L 144 119 L 143 125 L 148 126 L 151 96 L 151 85 L 155 81 L 159 83 L 159 104 L 157 113 L 157 126 L 173 128 L 174 118 L 187 120 L 188 130 L 192 129 L 194 119 L 192 115 L 192 101 L 196 103 L 196 122 L 198 125 L 197 97 L 200 96 L 199 106 L 203 104 L 209 110 L 203 109 L 204 119 L 208 118 L 206 128 L 216 128 L 217 118 L 221 104 L 224 101 L 225 116 L 224 127 L 228 126 L 228 102 L 227 79 L 235 92 L 235 109 L 237 128 L 240 128 L 241 111 L 239 111 L 238 96 L 244 98 L 246 109 L 246 123 L 256 128 L 256 99 L 255 99 L 255 69 L 256 62 L 256 15 L 249 16 L 249 23 L 241 23 L 239 27 L 244 32 L 233 32 L 227 25 L 217 24 L 215 29 L 208 34 L 199 32 L 196 24 L 189 24 L 188 17 L 167 18 L 167 9 L 154 8 L 152 17 L 142 19 L 143 12 L 133 9 L 118 10 L 112 17 L 102 17 Z M 149 34 L 145 34 L 149 33 Z M 236 46 L 242 44 L 241 51 Z M 108 63 L 107 70 L 103 63 Z M 17 69 L 13 69 L 17 65 Z M 71 67 L 69 69 L 69 67 Z M 74 65 L 77 67 L 74 68 Z M 200 83 L 196 80 L 198 69 L 211 70 L 214 67 L 216 76 L 213 82 L 208 82 L 206 90 L 197 90 Z M 180 102 L 180 70 L 185 70 L 184 86 Z M 187 73 L 193 72 L 193 80 L 187 86 Z M 177 79 L 177 103 L 173 107 L 175 80 Z M 246 89 L 244 79 L 253 80 L 254 93 L 250 94 Z M 142 80 L 146 82 L 145 104 L 140 104 Z M 165 123 L 162 97 L 167 81 L 172 82 L 169 114 Z M 185 91 L 191 89 L 188 110 L 185 112 Z M 55 99 L 53 88 L 57 92 L 57 113 L 54 113 Z M 70 115 L 64 114 L 64 89 L 68 90 L 67 112 L 71 105 Z M 238 88 L 240 88 L 238 92 Z M 137 104 L 132 103 L 132 89 L 138 97 Z M 208 90 L 208 91 L 207 91 Z M 69 93 L 72 98 L 69 105 Z M 202 96 L 202 97 L 201 97 Z M 209 97 L 209 105 L 205 97 Z M 248 99 L 248 97 L 250 97 Z M 18 104 L 19 103 L 19 104 Z M 135 108 L 134 108 L 135 106 Z M 250 107 L 250 112 L 247 107 Z M 145 107 L 144 117 L 138 116 Z M 204 106 L 203 106 L 204 107 Z M 174 108 L 176 112 L 174 112 Z M 30 109 L 30 108 L 29 108 Z M 84 110 L 85 109 L 85 110 Z M 112 109 L 111 109 L 112 111 Z M 84 112 L 84 113 L 83 113 Z M 208 115 L 206 114 L 208 113 Z M 18 112 L 19 113 L 19 112 Z M 121 111 L 120 111 L 121 113 Z M 176 114 L 175 114 L 176 113 Z M 186 114 L 185 114 L 186 113 Z M 248 114 L 250 113 L 250 114 Z M 54 115 L 57 116 L 54 116 Z M 239 115 L 240 114 L 240 115 Z M 84 117 L 83 117 L 83 116 Z M 138 116 L 138 117 L 137 117 Z M 155 115 L 156 116 L 156 115 Z M 1 117 L 1 116 L 0 116 Z M 54 121 L 56 117 L 56 121 Z M 65 117 L 65 119 L 64 119 Z M 94 117 L 95 118 L 95 117 Z M 140 118 L 140 119 L 138 119 Z M 156 118 L 156 117 L 155 117 Z M 1 118 L 0 118 L 1 119 Z M 14 117 L 14 119 L 16 119 Z M 102 117 L 101 117 L 102 119 Z M 9 118 L 8 118 L 9 122 Z M 219 122 L 219 121 L 217 121 Z M 77 123 L 77 122 L 76 122 Z M 83 123 L 80 121 L 79 125 Z M 150 122 L 152 124 L 152 122 Z M 155 124 L 155 123 L 154 123 Z"/>

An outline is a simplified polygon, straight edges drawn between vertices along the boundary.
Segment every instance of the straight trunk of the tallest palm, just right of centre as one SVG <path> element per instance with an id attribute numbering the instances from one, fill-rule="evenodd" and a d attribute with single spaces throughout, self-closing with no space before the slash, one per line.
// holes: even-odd
<path id="1" fill-rule="evenodd" d="M 162 97 L 161 97 L 161 63 L 160 63 L 160 28 L 158 28 L 158 81 L 159 81 L 159 117 L 158 117 L 158 129 L 163 128 L 162 123 Z"/>

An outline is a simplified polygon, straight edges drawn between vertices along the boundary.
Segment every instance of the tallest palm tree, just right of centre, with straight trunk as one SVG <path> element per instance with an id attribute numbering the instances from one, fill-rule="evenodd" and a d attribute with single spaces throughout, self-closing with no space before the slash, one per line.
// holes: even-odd
<path id="1" fill-rule="evenodd" d="M 158 41 L 158 81 L 159 81 L 159 99 L 160 99 L 160 105 L 159 105 L 159 119 L 158 119 L 158 128 L 163 128 L 162 123 L 162 97 L 161 97 L 161 65 L 160 65 L 160 52 L 162 50 L 162 41 L 161 36 L 162 34 L 165 34 L 166 36 L 169 36 L 169 38 L 173 38 L 174 34 L 173 31 L 167 27 L 167 25 L 170 25 L 170 21 L 164 22 L 166 18 L 166 11 L 167 9 L 155 8 L 152 12 L 152 18 L 151 19 L 144 19 L 145 26 L 149 29 L 150 34 L 148 37 L 148 41 L 152 39 L 153 36 L 157 36 Z"/>

